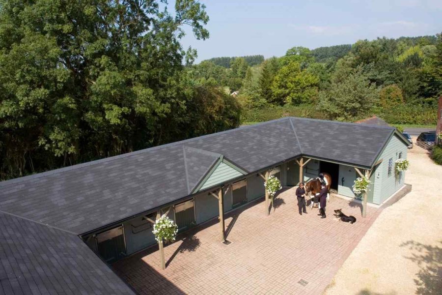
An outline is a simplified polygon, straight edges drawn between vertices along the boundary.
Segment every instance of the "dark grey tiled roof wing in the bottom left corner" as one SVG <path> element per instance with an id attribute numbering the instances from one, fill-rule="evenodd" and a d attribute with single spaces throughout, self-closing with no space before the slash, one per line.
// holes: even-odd
<path id="1" fill-rule="evenodd" d="M 80 237 L 0 212 L 0 294 L 135 294 Z"/>

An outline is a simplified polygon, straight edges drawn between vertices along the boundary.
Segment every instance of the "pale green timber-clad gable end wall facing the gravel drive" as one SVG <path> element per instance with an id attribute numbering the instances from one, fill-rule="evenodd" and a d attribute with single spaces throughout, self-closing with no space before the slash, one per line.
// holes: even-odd
<path id="1" fill-rule="evenodd" d="M 374 187 L 373 203 L 381 204 L 404 185 L 404 175 L 400 175 L 398 178 L 394 175 L 394 162 L 399 158 L 400 152 L 402 152 L 402 158 L 406 159 L 407 145 L 394 134 L 379 158 L 383 159 L 376 171 L 376 180 L 379 180 L 380 185 L 376 183 Z M 390 158 L 393 159 L 393 171 L 388 176 L 388 160 Z"/>

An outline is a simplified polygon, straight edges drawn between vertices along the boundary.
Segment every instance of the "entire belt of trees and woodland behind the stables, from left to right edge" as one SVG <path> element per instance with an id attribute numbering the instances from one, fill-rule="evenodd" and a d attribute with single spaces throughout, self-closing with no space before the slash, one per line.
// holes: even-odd
<path id="1" fill-rule="evenodd" d="M 435 123 L 440 34 L 194 64 L 204 5 L 161 3 L 0 0 L 0 180 L 281 116 Z"/>

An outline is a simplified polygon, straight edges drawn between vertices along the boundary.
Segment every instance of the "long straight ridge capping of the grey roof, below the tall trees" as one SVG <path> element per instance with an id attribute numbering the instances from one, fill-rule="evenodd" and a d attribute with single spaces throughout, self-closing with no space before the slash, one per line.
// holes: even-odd
<path id="1" fill-rule="evenodd" d="M 282 121 L 284 119 L 288 119 L 290 117 L 283 117 L 283 118 L 278 118 L 278 119 L 274 119 L 274 120 L 270 120 L 270 121 L 265 121 L 265 122 L 261 122 L 261 123 L 257 123 L 257 124 L 253 124 L 253 125 L 249 125 L 249 126 L 244 126 L 241 128 L 232 128 L 229 130 L 224 130 L 224 131 L 220 131 L 220 132 L 215 132 L 215 133 L 210 133 L 210 134 L 206 134 L 206 135 L 201 135 L 198 137 L 193 137 L 193 138 L 188 138 L 185 140 L 181 140 L 181 141 L 176 141 L 176 142 L 171 142 L 168 144 L 164 144 L 164 145 L 160 145 L 160 146 L 155 146 L 155 147 L 150 147 L 150 148 L 143 148 L 143 149 L 138 149 L 135 151 L 131 151 L 131 152 L 127 152 L 124 154 L 119 154 L 119 155 L 115 155 L 115 156 L 111 156 L 111 157 L 106 157 L 106 158 L 102 158 L 102 159 L 98 159 L 98 160 L 93 160 L 93 161 L 88 161 L 88 162 L 84 162 L 84 163 L 79 163 L 79 164 L 75 164 L 72 166 L 67 166 L 67 167 L 62 167 L 62 168 L 58 168 L 58 169 L 54 169 L 54 170 L 49 170 L 49 171 L 45 171 L 45 172 L 41 172 L 41 173 L 36 173 L 36 174 L 32 174 L 32 175 L 27 175 L 27 176 L 23 176 L 23 177 L 18 177 L 18 178 L 12 178 L 12 179 L 8 179 L 8 180 L 4 180 L 4 181 L 0 181 L 0 186 L 4 185 L 4 184 L 10 184 L 10 183 L 17 183 L 17 182 L 21 182 L 21 181 L 26 181 L 28 179 L 35 179 L 35 178 L 40 178 L 40 177 L 44 177 L 44 176 L 48 176 L 48 175 L 53 175 L 59 172 L 64 172 L 64 171 L 70 171 L 70 170 L 75 170 L 75 169 L 79 169 L 79 168 L 83 168 L 83 167 L 88 167 L 88 166 L 92 166 L 95 164 L 100 164 L 100 163 L 104 163 L 104 162 L 108 162 L 114 159 L 120 159 L 120 158 L 125 158 L 128 156 L 132 156 L 132 155 L 136 155 L 139 153 L 143 153 L 146 151 L 151 151 L 151 150 L 156 150 L 156 149 L 160 149 L 160 148 L 168 148 L 168 147 L 173 147 L 173 146 L 178 146 L 178 145 L 184 145 L 185 143 L 189 143 L 198 139 L 202 139 L 202 138 L 207 138 L 207 137 L 212 137 L 215 135 L 220 135 L 220 134 L 225 134 L 225 133 L 230 133 L 230 132 L 235 132 L 235 131 L 240 131 L 240 130 L 244 130 L 244 129 L 249 129 L 249 128 L 253 128 L 253 127 L 257 127 L 260 125 L 265 125 L 265 124 L 270 124 L 276 121 Z M 201 149 L 202 150 L 202 149 Z M 209 152 L 209 151 L 207 151 Z"/>

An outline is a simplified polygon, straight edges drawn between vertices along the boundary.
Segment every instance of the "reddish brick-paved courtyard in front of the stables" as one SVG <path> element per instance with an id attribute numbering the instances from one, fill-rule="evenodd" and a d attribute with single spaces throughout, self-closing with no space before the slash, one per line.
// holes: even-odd
<path id="1" fill-rule="evenodd" d="M 263 199 L 226 215 L 220 242 L 217 221 L 197 227 L 165 247 L 166 270 L 158 246 L 113 265 L 139 294 L 321 294 L 381 209 L 331 197 L 327 218 L 296 206 L 295 188 L 275 199 L 265 216 Z M 339 222 L 333 209 L 354 215 L 353 225 Z M 300 280 L 308 282 L 305 286 Z"/>

